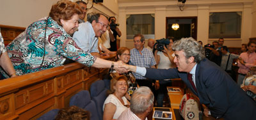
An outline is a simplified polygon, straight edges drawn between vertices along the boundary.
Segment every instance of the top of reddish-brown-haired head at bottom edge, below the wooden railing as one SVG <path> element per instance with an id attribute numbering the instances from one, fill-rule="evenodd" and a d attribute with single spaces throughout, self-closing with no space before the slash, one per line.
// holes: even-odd
<path id="1" fill-rule="evenodd" d="M 77 106 L 60 109 L 55 120 L 90 120 L 90 112 Z"/>

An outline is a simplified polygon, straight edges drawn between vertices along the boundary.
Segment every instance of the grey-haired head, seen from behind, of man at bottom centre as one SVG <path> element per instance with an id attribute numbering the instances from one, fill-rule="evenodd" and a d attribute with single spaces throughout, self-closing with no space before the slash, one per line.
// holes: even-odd
<path id="1" fill-rule="evenodd" d="M 141 86 L 132 93 L 130 109 L 134 114 L 145 112 L 154 103 L 154 94 L 147 86 Z"/>

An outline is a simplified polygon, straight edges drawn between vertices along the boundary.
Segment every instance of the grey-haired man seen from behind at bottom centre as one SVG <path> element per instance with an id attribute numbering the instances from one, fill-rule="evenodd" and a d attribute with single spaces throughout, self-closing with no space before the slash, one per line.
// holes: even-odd
<path id="1" fill-rule="evenodd" d="M 142 86 L 134 91 L 130 108 L 124 110 L 118 120 L 145 120 L 154 107 L 154 94 L 150 88 Z"/>

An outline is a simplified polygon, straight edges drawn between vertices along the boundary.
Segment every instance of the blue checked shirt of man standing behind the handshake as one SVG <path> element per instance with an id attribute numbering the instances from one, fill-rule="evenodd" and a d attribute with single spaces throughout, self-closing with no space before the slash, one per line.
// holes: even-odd
<path id="1" fill-rule="evenodd" d="M 130 58 L 130 65 L 135 65 L 139 67 L 151 67 L 156 65 L 156 60 L 152 51 L 148 50 L 147 48 L 143 48 L 141 51 L 142 55 L 140 55 L 140 51 L 136 48 L 131 50 L 131 58 Z M 142 77 L 139 74 L 133 73 L 136 79 L 146 79 L 146 77 Z"/>

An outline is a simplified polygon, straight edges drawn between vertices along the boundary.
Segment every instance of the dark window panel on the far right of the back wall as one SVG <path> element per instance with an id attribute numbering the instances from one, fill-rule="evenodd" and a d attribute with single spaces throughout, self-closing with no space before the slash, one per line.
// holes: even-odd
<path id="1" fill-rule="evenodd" d="M 210 13 L 209 38 L 241 38 L 242 12 Z"/>

